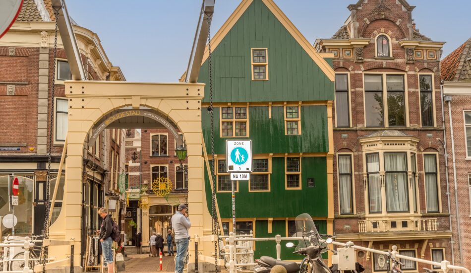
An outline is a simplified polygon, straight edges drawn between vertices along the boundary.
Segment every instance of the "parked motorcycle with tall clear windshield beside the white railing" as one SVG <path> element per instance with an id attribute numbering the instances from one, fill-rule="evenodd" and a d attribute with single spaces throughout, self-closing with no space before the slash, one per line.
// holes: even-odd
<path id="1" fill-rule="evenodd" d="M 296 233 L 293 237 L 301 237 L 293 253 L 304 255 L 302 262 L 280 261 L 272 257 L 262 256 L 256 259 L 257 265 L 253 268 L 255 273 L 270 273 L 274 266 L 282 266 L 287 273 L 331 273 L 324 263 L 322 253 L 328 251 L 327 244 L 332 243 L 332 236 L 319 235 L 312 217 L 303 213 L 298 215 L 295 220 Z M 323 239 L 322 237 L 328 237 Z M 287 247 L 293 247 L 293 243 L 287 243 Z"/>

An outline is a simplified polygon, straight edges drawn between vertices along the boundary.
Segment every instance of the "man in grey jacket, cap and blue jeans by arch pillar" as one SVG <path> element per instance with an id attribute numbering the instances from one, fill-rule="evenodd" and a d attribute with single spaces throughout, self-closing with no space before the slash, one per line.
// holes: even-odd
<path id="1" fill-rule="evenodd" d="M 177 245 L 177 257 L 175 261 L 175 273 L 183 272 L 183 259 L 188 250 L 190 235 L 188 228 L 191 227 L 185 204 L 178 205 L 178 211 L 172 216 L 172 227 L 175 232 L 175 244 Z"/>

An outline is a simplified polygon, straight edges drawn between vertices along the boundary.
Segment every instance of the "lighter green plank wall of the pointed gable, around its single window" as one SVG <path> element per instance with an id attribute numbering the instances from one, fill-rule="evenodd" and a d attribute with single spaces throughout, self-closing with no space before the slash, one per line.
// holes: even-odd
<path id="1" fill-rule="evenodd" d="M 268 49 L 269 80 L 252 81 L 251 48 Z M 334 99 L 333 82 L 261 0 L 254 0 L 213 48 L 212 64 L 215 102 Z M 203 102 L 209 102 L 208 60 L 198 81 L 206 83 Z"/>

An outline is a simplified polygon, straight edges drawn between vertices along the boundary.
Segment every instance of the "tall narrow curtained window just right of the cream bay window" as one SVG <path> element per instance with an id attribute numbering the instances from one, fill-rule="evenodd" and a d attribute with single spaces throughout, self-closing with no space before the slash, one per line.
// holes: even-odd
<path id="1" fill-rule="evenodd" d="M 437 165 L 434 154 L 423 156 L 425 166 L 425 192 L 427 211 L 438 211 Z"/>

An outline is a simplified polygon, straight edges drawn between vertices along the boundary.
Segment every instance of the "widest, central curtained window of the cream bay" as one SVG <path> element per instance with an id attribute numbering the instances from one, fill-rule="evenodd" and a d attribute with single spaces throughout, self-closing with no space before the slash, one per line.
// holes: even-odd
<path id="1" fill-rule="evenodd" d="M 406 165 L 406 153 L 384 154 L 388 211 L 409 211 Z"/>

